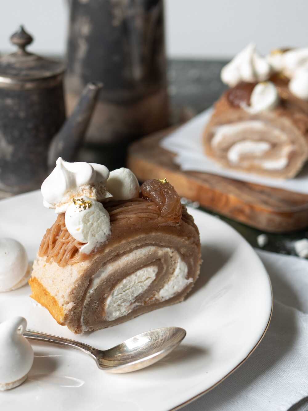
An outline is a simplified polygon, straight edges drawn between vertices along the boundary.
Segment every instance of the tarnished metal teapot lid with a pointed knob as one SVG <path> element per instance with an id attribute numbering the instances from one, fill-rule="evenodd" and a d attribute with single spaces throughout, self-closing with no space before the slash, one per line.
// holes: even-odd
<path id="1" fill-rule="evenodd" d="M 15 53 L 0 57 L 1 85 L 25 83 L 43 80 L 62 74 L 65 66 L 62 62 L 49 60 L 25 50 L 33 37 L 21 25 L 10 37 L 11 43 L 18 47 Z"/>

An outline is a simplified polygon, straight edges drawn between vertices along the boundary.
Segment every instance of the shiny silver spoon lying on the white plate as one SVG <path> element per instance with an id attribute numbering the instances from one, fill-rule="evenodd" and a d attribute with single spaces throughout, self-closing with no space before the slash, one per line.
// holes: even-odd
<path id="1" fill-rule="evenodd" d="M 156 328 L 129 338 L 109 350 L 98 350 L 79 341 L 45 334 L 44 332 L 25 330 L 28 339 L 51 342 L 82 351 L 91 356 L 98 368 L 114 373 L 137 371 L 148 367 L 169 354 L 186 335 L 179 327 Z"/>

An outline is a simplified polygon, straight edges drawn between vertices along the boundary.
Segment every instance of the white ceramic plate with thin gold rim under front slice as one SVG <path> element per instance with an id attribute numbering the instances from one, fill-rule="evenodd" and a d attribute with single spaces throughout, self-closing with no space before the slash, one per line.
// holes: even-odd
<path id="1" fill-rule="evenodd" d="M 28 328 L 75 338 L 106 349 L 140 332 L 179 326 L 187 337 L 159 363 L 132 374 L 100 371 L 78 351 L 35 343 L 34 365 L 20 387 L 0 393 L 0 409 L 32 411 L 174 409 L 209 390 L 249 356 L 269 324 L 272 310 L 267 272 L 250 245 L 230 226 L 189 209 L 200 230 L 203 265 L 188 298 L 127 323 L 75 336 L 30 297 L 30 287 L 0 293 L 0 322 L 27 318 Z M 40 192 L 0 201 L 0 236 L 21 241 L 34 259 L 55 220 Z"/>

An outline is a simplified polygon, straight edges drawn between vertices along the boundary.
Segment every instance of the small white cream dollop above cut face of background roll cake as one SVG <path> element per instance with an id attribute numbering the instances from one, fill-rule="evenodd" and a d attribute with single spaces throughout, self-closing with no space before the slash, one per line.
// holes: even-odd
<path id="1" fill-rule="evenodd" d="M 242 104 L 242 109 L 251 114 L 260 113 L 261 111 L 273 110 L 280 102 L 277 88 L 271 81 L 258 83 L 251 93 L 250 106 Z"/>

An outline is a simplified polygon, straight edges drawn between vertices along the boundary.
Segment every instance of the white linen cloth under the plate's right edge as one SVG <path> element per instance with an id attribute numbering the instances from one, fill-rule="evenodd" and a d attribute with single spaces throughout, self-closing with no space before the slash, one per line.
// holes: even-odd
<path id="1" fill-rule="evenodd" d="M 274 294 L 267 333 L 240 368 L 185 411 L 308 410 L 308 261 L 256 252 Z"/>

